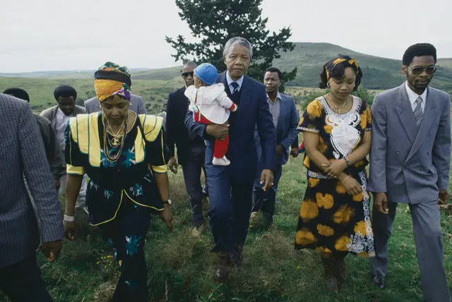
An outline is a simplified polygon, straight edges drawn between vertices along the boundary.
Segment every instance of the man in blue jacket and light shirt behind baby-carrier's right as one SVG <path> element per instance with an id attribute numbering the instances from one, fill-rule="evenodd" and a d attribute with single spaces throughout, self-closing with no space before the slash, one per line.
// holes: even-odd
<path id="1" fill-rule="evenodd" d="M 279 92 L 281 78 L 283 74 L 278 68 L 270 67 L 263 75 L 263 84 L 266 85 L 267 101 L 270 107 L 270 113 L 273 116 L 273 123 L 276 128 L 276 168 L 273 170 L 273 186 L 267 191 L 263 191 L 260 178 L 254 181 L 254 205 L 251 212 L 250 224 L 258 222 L 258 213 L 262 213 L 263 219 L 267 225 L 273 224 L 273 215 L 275 214 L 276 193 L 278 192 L 278 183 L 283 174 L 283 165 L 289 159 L 289 152 L 292 143 L 298 136 L 297 125 L 299 116 L 295 107 L 295 100 L 289 95 Z M 256 149 L 258 151 L 259 167 L 261 172 L 262 150 L 256 128 L 255 134 Z M 258 173 L 258 174 L 259 174 Z"/>

